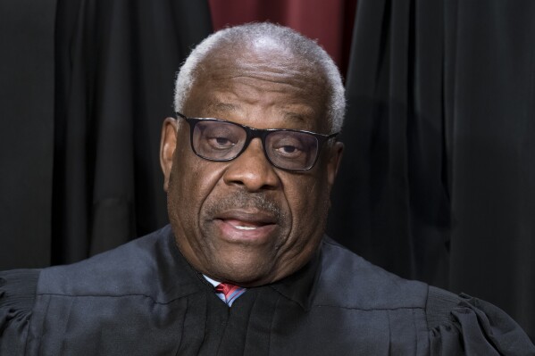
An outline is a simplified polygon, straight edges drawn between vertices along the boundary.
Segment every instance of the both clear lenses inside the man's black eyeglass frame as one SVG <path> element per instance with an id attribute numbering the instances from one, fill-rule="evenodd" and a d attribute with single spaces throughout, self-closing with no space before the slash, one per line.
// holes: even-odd
<path id="1" fill-rule="evenodd" d="M 194 150 L 213 161 L 236 158 L 246 142 L 245 128 L 229 122 L 198 121 L 193 131 Z M 272 164 L 286 170 L 309 169 L 318 153 L 318 140 L 305 132 L 271 131 L 266 135 L 263 145 Z"/>

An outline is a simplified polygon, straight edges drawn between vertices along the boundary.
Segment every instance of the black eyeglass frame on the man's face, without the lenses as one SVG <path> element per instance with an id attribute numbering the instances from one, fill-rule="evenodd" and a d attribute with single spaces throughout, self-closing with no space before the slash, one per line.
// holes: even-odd
<path id="1" fill-rule="evenodd" d="M 232 161 L 232 160 L 235 160 L 235 159 L 237 159 L 239 157 L 239 155 L 241 153 L 244 153 L 245 150 L 247 150 L 247 147 L 249 146 L 249 144 L 251 143 L 253 138 L 258 137 L 262 141 L 263 155 L 272 164 L 273 167 L 277 167 L 280 170 L 288 170 L 288 171 L 292 171 L 292 172 L 294 172 L 294 171 L 304 172 L 306 170 L 312 170 L 313 166 L 316 164 L 316 162 L 318 161 L 318 158 L 320 157 L 320 153 L 322 151 L 323 144 L 325 142 L 329 141 L 331 138 L 337 137 L 339 135 L 339 132 L 335 132 L 334 134 L 330 134 L 330 135 L 323 135 L 323 134 L 318 134 L 318 133 L 312 132 L 312 131 L 298 130 L 298 129 L 291 129 L 291 128 L 251 128 L 251 127 L 248 127 L 247 125 L 241 125 L 241 124 L 238 124 L 237 122 L 232 122 L 232 121 L 228 121 L 228 120 L 215 119 L 215 118 L 188 118 L 186 115 L 184 115 L 184 114 L 182 114 L 180 112 L 175 112 L 175 113 L 177 115 L 177 119 L 181 118 L 181 119 L 186 120 L 186 122 L 188 122 L 188 125 L 189 125 L 189 144 L 191 145 L 191 150 L 197 156 L 199 156 L 201 158 L 204 158 L 207 161 Z M 216 159 L 213 159 L 213 158 L 210 158 L 210 157 L 205 157 L 204 155 L 197 153 L 196 149 L 195 149 L 195 147 L 193 145 L 193 133 L 194 133 L 194 129 L 195 129 L 196 124 L 198 122 L 202 122 L 202 121 L 224 122 L 224 123 L 228 123 L 228 124 L 231 124 L 231 125 L 236 125 L 239 128 L 243 128 L 246 131 L 246 140 L 245 140 L 245 143 L 244 143 L 243 147 L 241 148 L 241 150 L 239 150 L 239 152 L 236 153 L 236 155 L 234 157 L 225 158 L 225 159 L 222 159 L 222 160 L 216 160 Z M 269 154 L 267 153 L 267 149 L 265 147 L 265 138 L 272 132 L 280 132 L 280 131 L 300 132 L 300 133 L 311 135 L 316 139 L 316 141 L 318 142 L 318 152 L 316 153 L 316 156 L 315 156 L 313 162 L 308 167 L 306 167 L 304 169 L 298 169 L 298 170 L 296 170 L 296 169 L 288 169 L 288 168 L 280 167 L 279 165 L 275 164 L 271 160 Z"/>

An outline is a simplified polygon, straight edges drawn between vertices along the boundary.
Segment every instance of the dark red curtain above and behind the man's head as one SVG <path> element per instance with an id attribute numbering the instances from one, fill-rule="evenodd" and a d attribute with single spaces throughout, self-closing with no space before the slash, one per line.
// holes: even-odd
<path id="1" fill-rule="evenodd" d="M 317 39 L 346 74 L 356 0 L 209 0 L 213 29 L 272 21 Z"/>

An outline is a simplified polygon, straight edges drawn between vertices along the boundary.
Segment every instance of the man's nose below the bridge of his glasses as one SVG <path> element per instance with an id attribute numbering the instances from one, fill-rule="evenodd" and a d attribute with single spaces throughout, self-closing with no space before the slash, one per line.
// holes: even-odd
<path id="1" fill-rule="evenodd" d="M 230 161 L 223 180 L 228 185 L 244 186 L 249 192 L 271 190 L 280 185 L 279 176 L 263 153 L 260 138 L 254 138 L 243 153 Z"/>

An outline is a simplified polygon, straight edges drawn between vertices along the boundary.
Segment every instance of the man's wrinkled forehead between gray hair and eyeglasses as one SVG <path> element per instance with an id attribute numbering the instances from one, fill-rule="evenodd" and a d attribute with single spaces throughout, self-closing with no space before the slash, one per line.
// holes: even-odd
<path id="1" fill-rule="evenodd" d="M 301 122 L 294 128 L 327 125 L 327 81 L 322 70 L 272 43 L 267 45 L 223 47 L 209 54 L 197 69 L 184 105 L 189 115 L 227 115 L 222 117 L 227 120 L 247 116 L 266 128 L 274 124 L 264 120 L 269 114 L 287 120 L 280 122 L 285 126 Z"/>

